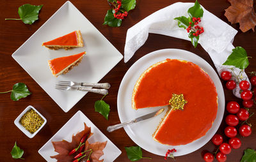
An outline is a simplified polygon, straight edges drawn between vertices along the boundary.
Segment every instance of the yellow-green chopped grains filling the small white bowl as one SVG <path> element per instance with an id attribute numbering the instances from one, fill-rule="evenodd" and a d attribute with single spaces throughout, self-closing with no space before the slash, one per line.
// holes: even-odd
<path id="1" fill-rule="evenodd" d="M 44 124 L 44 119 L 31 108 L 22 115 L 19 122 L 30 133 L 35 133 Z"/>

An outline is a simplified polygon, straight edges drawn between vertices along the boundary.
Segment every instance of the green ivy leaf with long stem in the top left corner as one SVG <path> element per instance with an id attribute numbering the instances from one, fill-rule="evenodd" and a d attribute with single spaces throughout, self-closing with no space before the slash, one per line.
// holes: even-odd
<path id="1" fill-rule="evenodd" d="M 38 14 L 43 5 L 35 6 L 31 4 L 24 4 L 19 7 L 18 13 L 20 18 L 5 18 L 5 20 L 22 20 L 24 24 L 33 24 L 38 20 Z"/>

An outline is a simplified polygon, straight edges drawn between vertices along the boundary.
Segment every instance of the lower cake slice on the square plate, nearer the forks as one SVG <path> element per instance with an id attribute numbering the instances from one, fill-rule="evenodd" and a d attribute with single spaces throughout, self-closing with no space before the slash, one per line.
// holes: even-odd
<path id="1" fill-rule="evenodd" d="M 48 61 L 52 75 L 58 77 L 61 74 L 68 73 L 74 66 L 77 66 L 86 52 L 82 52 L 76 55 L 68 55 L 65 57 L 58 57 Z"/>

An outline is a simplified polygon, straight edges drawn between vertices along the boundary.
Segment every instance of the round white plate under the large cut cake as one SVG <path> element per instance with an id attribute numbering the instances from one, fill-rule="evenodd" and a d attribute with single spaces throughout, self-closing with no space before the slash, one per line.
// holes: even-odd
<path id="1" fill-rule="evenodd" d="M 207 131 L 205 136 L 202 136 L 198 140 L 191 142 L 186 145 L 163 145 L 152 138 L 152 134 L 156 130 L 161 118 L 164 117 L 165 112 L 157 117 L 148 119 L 146 121 L 141 121 L 134 123 L 130 126 L 126 126 L 124 129 L 129 135 L 129 137 L 141 148 L 145 149 L 148 152 L 152 152 L 153 154 L 157 154 L 160 156 L 164 156 L 168 149 L 175 148 L 177 152 L 175 152 L 174 156 L 182 156 L 185 154 L 189 154 L 190 152 L 196 151 L 203 145 L 205 145 L 212 136 L 216 133 L 219 128 L 223 114 L 225 109 L 225 96 L 223 92 L 223 87 L 220 82 L 220 78 L 213 70 L 210 64 L 208 64 L 204 59 L 195 55 L 186 50 L 179 49 L 163 49 L 151 52 L 147 54 L 136 63 L 134 63 L 131 68 L 125 74 L 117 96 L 117 107 L 118 107 L 118 115 L 121 122 L 131 121 L 136 117 L 140 117 L 141 115 L 148 114 L 150 112 L 156 111 L 158 108 L 142 108 L 139 110 L 132 109 L 132 91 L 136 81 L 140 77 L 143 71 L 147 70 L 152 64 L 155 64 L 159 61 L 163 61 L 164 59 L 182 59 L 186 61 L 191 61 L 192 63 L 200 66 L 205 72 L 209 74 L 211 79 L 213 80 L 217 92 L 218 92 L 218 112 L 214 123 L 212 124 L 212 128 Z M 166 109 L 166 108 L 165 108 Z M 175 135 L 177 136 L 177 135 Z"/>

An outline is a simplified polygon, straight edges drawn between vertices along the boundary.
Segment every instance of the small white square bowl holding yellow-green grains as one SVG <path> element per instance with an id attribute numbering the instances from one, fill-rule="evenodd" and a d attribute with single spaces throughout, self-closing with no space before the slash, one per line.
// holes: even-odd
<path id="1" fill-rule="evenodd" d="M 44 123 L 42 124 L 42 126 L 40 126 L 39 129 L 37 129 L 37 131 L 35 131 L 35 133 L 30 133 L 27 129 L 24 128 L 24 126 L 22 126 L 20 124 L 20 118 L 26 113 L 28 112 L 28 110 L 30 109 L 33 109 L 35 110 L 35 112 L 40 115 L 40 117 L 42 117 L 42 119 L 44 119 Z M 40 131 L 40 129 L 42 129 L 44 127 L 44 125 L 46 124 L 47 120 L 45 119 L 45 117 L 40 114 L 40 112 L 38 112 L 34 107 L 32 107 L 31 105 L 29 105 L 27 108 L 25 108 L 25 110 L 15 119 L 14 121 L 14 124 L 20 129 L 20 131 L 22 131 L 25 135 L 27 135 L 29 138 L 33 138 L 37 133 L 38 131 Z"/>

